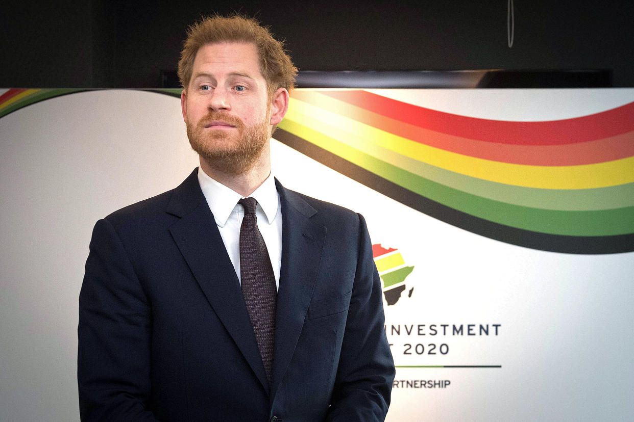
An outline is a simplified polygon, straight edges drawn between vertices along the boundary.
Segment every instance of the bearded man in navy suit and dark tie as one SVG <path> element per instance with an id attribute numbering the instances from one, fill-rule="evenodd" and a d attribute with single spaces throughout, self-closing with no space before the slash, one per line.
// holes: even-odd
<path id="1" fill-rule="evenodd" d="M 271 176 L 295 74 L 254 20 L 190 28 L 181 106 L 200 168 L 94 228 L 82 419 L 385 418 L 394 363 L 365 221 Z"/>

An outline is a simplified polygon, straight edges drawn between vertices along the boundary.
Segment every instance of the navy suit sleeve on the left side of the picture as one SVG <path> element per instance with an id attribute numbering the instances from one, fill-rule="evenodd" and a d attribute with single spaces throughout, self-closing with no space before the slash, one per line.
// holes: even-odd
<path id="1" fill-rule="evenodd" d="M 82 421 L 154 421 L 150 304 L 112 224 L 93 230 L 79 294 L 77 381 Z"/>

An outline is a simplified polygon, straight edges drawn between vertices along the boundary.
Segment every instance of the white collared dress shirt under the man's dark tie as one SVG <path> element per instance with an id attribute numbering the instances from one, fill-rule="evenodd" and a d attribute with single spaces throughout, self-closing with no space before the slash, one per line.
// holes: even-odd
<path id="1" fill-rule="evenodd" d="M 209 177 L 202 168 L 198 168 L 198 183 L 207 199 L 209 209 L 214 214 L 216 225 L 223 238 L 224 247 L 229 254 L 238 281 L 240 281 L 240 225 L 244 217 L 244 208 L 238 204 L 243 198 L 220 182 Z M 280 195 L 275 189 L 273 174 L 249 195 L 257 201 L 256 218 L 266 249 L 269 252 L 275 285 L 280 289 L 281 267 L 281 205 Z"/>

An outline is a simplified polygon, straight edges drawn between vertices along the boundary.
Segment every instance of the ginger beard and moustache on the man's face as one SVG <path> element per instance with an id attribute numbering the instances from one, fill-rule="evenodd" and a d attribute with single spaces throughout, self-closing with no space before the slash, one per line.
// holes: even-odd
<path id="1" fill-rule="evenodd" d="M 266 109 L 266 117 L 261 123 L 252 127 L 245 124 L 236 116 L 210 111 L 198 123 L 187 121 L 187 137 L 190 139 L 191 149 L 206 161 L 209 166 L 228 175 L 243 175 L 251 170 L 262 154 L 262 149 L 271 138 L 268 121 L 270 106 Z M 205 125 L 210 121 L 222 120 L 236 127 L 226 132 L 224 130 L 209 130 Z"/>

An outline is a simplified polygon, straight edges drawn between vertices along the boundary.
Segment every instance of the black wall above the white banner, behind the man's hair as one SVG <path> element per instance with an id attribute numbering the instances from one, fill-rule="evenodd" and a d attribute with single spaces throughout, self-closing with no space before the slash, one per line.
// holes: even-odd
<path id="1" fill-rule="evenodd" d="M 413 2 L 407 2 L 413 3 Z M 634 87 L 634 1 L 4 1 L 0 87 L 160 87 L 187 25 L 240 11 L 270 25 L 301 70 L 612 71 Z"/>

